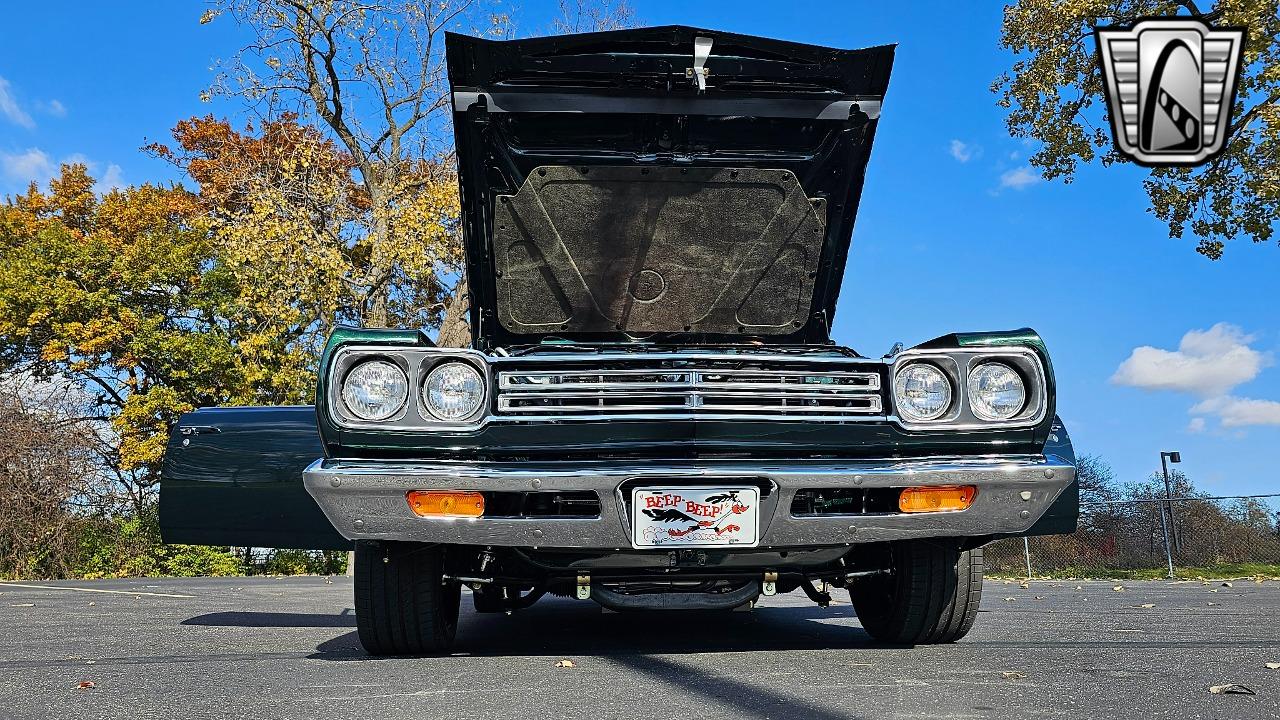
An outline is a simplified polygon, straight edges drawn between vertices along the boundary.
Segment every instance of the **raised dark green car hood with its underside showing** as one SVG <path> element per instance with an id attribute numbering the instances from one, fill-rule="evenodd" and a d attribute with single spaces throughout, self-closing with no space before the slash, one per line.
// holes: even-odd
<path id="1" fill-rule="evenodd" d="M 447 37 L 483 348 L 828 342 L 893 47 Z"/>

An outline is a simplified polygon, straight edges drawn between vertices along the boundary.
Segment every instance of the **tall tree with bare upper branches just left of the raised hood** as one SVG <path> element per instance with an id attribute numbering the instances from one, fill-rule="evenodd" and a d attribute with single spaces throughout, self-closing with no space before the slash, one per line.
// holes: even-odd
<path id="1" fill-rule="evenodd" d="M 515 24 L 503 5 L 221 0 L 202 22 L 221 14 L 250 28 L 255 40 L 225 63 L 212 92 L 241 97 L 273 118 L 298 111 L 332 133 L 349 159 L 366 204 L 347 218 L 348 241 L 362 254 L 346 288 L 360 309 L 358 320 L 371 327 L 438 325 L 440 345 L 467 345 L 457 225 L 440 215 L 445 193 L 456 192 L 444 32 L 509 37 Z M 613 29 L 630 18 L 625 3 L 564 0 L 554 29 Z M 439 224 L 431 229 L 430 222 Z M 415 249 L 419 260 L 411 260 Z M 429 278 L 424 265 L 435 274 Z"/>

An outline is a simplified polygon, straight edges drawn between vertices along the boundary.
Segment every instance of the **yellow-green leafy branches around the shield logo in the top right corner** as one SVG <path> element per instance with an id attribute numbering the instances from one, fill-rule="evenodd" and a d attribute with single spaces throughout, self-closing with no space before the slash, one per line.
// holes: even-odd
<path id="1" fill-rule="evenodd" d="M 1018 0 L 1005 10 L 1012 68 L 992 86 L 1014 137 L 1038 141 L 1030 164 L 1070 182 L 1080 163 L 1124 161 L 1115 151 L 1093 28 L 1184 14 L 1244 26 L 1243 74 L 1225 151 L 1196 168 L 1155 168 L 1149 211 L 1171 237 L 1190 233 L 1219 259 L 1235 238 L 1266 242 L 1280 218 L 1280 9 L 1275 0 Z"/>

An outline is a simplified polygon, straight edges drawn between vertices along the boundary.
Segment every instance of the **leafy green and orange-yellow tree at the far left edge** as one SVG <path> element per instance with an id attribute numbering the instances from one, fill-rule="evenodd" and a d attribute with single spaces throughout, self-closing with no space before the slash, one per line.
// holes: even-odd
<path id="1" fill-rule="evenodd" d="M 109 441 L 105 471 L 136 510 L 183 411 L 314 392 L 314 354 L 278 331 L 275 309 L 247 302 L 256 288 L 216 250 L 196 195 L 99 196 L 83 165 L 0 205 L 0 374 L 81 386 Z"/>

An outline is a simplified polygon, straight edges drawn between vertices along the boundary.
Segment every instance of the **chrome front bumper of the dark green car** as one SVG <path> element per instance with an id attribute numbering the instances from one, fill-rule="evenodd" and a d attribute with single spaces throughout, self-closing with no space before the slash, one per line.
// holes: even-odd
<path id="1" fill-rule="evenodd" d="M 631 548 L 631 525 L 618 487 L 696 480 L 732 484 L 764 479 L 773 492 L 760 502 L 762 548 L 815 547 L 925 537 L 1021 533 L 1039 519 L 1075 468 L 1053 456 L 987 456 L 883 461 L 671 461 L 671 462 L 458 462 L 317 460 L 305 475 L 307 492 L 348 539 L 392 539 L 507 547 Z M 973 505 L 959 512 L 791 514 L 801 488 L 877 488 L 972 484 Z M 489 492 L 594 491 L 596 518 L 426 519 L 410 510 L 413 489 Z M 663 551 L 668 548 L 662 548 Z"/>

